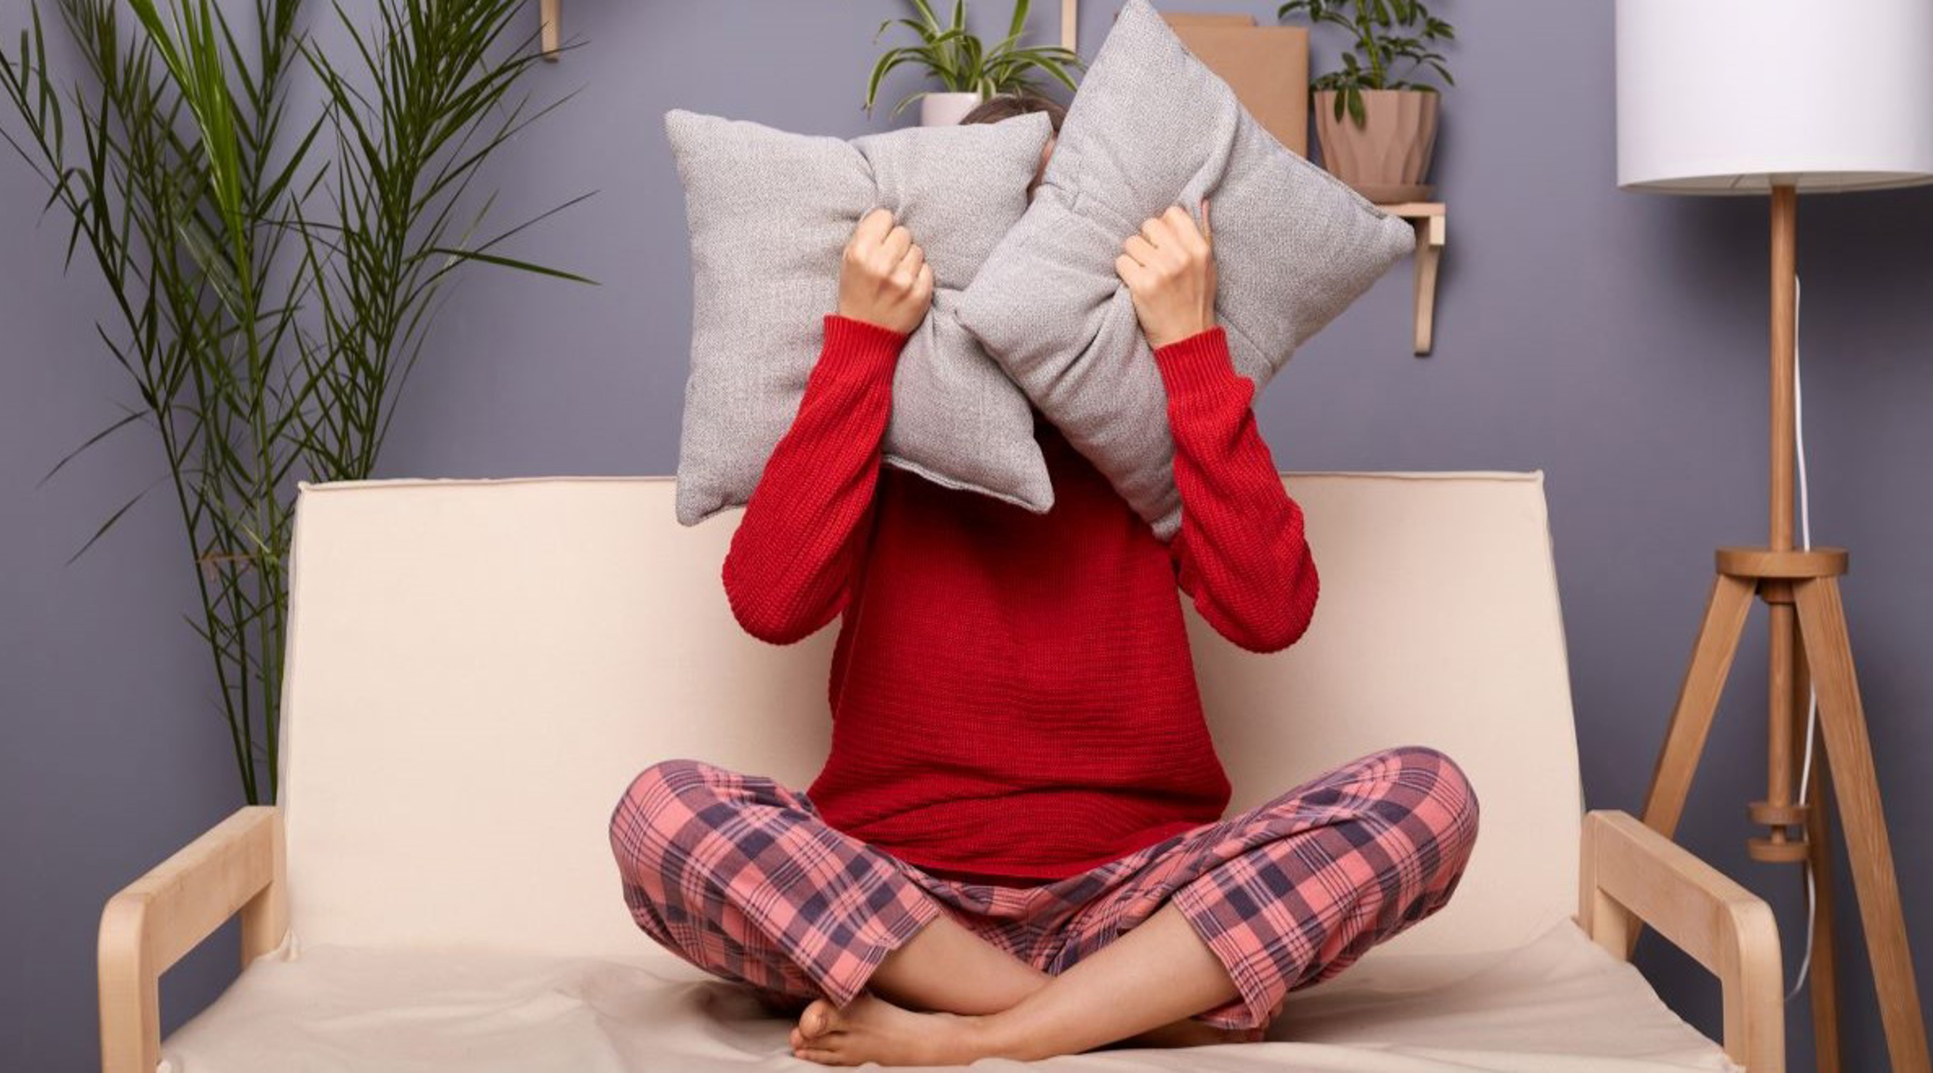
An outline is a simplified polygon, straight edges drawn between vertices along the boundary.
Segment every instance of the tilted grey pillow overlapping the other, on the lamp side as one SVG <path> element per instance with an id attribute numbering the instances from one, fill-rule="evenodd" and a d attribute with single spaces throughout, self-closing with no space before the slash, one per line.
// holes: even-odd
<path id="1" fill-rule="evenodd" d="M 1121 242 L 1210 199 L 1216 315 L 1256 391 L 1415 247 L 1398 217 L 1282 147 L 1146 0 L 1127 0 L 1061 122 L 1034 203 L 959 319 L 1162 539 L 1181 524 L 1168 396 Z"/>

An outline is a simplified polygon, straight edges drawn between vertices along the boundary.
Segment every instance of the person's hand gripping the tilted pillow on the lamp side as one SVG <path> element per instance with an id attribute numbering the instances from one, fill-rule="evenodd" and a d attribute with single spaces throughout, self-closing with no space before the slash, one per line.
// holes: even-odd
<path id="1" fill-rule="evenodd" d="M 1208 226 L 1208 199 L 1202 222 L 1169 205 L 1160 217 L 1127 236 L 1113 271 L 1135 298 L 1135 317 L 1160 350 L 1214 327 L 1214 238 Z"/>

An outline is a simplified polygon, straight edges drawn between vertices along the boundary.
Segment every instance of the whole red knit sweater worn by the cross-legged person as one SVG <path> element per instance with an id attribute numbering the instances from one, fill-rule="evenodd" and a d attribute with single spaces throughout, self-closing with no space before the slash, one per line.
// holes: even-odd
<path id="1" fill-rule="evenodd" d="M 1175 588 L 1253 652 L 1316 603 L 1303 514 L 1222 329 L 1154 354 L 1181 530 L 1162 543 L 1034 412 L 1053 508 L 1032 514 L 880 464 L 907 336 L 839 315 L 725 557 L 748 632 L 841 617 L 831 756 L 806 795 L 922 868 L 1042 882 L 1222 818 Z"/>

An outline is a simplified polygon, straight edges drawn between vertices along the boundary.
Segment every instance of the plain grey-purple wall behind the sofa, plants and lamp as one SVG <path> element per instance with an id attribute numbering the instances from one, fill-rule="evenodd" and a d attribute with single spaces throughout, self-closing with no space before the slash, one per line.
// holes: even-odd
<path id="1" fill-rule="evenodd" d="M 1082 4 L 1086 54 L 1115 6 Z M 1164 6 L 1274 14 L 1256 0 Z M 21 8 L 8 4 L 0 37 L 19 31 Z M 992 31 L 1005 4 L 980 8 Z M 1637 810 L 1711 549 L 1765 537 L 1767 207 L 1616 189 L 1612 4 L 1440 10 L 1461 43 L 1434 170 L 1452 207 L 1436 354 L 1409 354 L 1403 265 L 1256 410 L 1287 470 L 1546 472 L 1589 806 Z M 671 472 L 690 288 L 659 118 L 686 106 L 789 130 L 881 130 L 883 110 L 858 110 L 860 87 L 874 29 L 899 12 L 897 0 L 566 0 L 566 33 L 586 44 L 534 81 L 545 97 L 580 95 L 493 178 L 505 218 L 597 189 L 520 253 L 603 286 L 472 275 L 410 383 L 379 476 Z M 1036 17 L 1052 37 L 1050 12 Z M 207 657 L 182 621 L 193 597 L 166 485 L 64 565 L 164 470 L 145 433 L 128 431 L 37 483 L 128 400 L 91 327 L 102 288 L 85 263 L 62 275 L 64 222 L 41 218 L 41 201 L 27 170 L 0 160 L 0 1067 L 85 1069 L 101 903 L 236 808 L 240 791 Z M 1846 605 L 1933 988 L 1933 843 L 1921 837 L 1933 818 L 1933 779 L 1921 777 L 1933 762 L 1929 247 L 1933 191 L 1802 201 L 1813 528 L 1854 549 Z M 1790 978 L 1803 878 L 1744 851 L 1763 833 L 1745 818 L 1745 802 L 1765 797 L 1763 679 L 1755 611 L 1680 841 L 1774 905 Z M 1881 1069 L 1846 876 L 1840 851 L 1846 1052 L 1850 1069 Z M 234 961 L 230 928 L 182 963 L 162 988 L 166 1027 L 216 996 Z M 1637 963 L 1672 1007 L 1720 1032 L 1717 986 L 1695 963 L 1653 932 Z M 1788 1009 L 1792 1067 L 1809 1069 L 1807 996 Z"/>

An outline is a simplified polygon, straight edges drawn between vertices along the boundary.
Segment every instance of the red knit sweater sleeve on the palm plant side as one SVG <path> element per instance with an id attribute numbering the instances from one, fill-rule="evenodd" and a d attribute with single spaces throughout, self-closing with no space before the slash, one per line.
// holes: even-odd
<path id="1" fill-rule="evenodd" d="M 825 342 L 725 553 L 725 595 L 771 644 L 810 636 L 845 607 L 872 518 L 880 439 L 907 336 L 825 315 Z"/>

